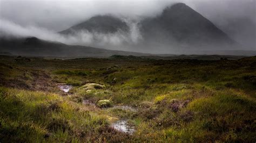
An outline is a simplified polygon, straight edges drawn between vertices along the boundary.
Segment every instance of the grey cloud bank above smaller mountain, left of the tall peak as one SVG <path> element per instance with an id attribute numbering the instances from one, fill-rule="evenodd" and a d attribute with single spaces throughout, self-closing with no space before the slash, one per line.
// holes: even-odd
<path id="1" fill-rule="evenodd" d="M 95 15 L 152 16 L 169 1 L 0 1 L 0 16 L 19 25 L 35 25 L 54 31 L 83 22 Z"/>

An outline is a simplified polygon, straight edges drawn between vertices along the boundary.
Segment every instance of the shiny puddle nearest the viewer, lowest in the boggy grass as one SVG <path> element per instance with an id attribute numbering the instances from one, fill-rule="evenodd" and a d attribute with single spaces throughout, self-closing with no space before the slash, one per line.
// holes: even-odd
<path id="1" fill-rule="evenodd" d="M 120 132 L 132 134 L 135 131 L 133 125 L 129 124 L 127 120 L 118 120 L 111 125 L 114 129 Z"/>

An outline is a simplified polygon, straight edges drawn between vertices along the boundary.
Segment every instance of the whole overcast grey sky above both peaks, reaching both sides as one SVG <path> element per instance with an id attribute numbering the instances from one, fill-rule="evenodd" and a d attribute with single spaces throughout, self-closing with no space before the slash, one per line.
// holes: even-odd
<path id="1" fill-rule="evenodd" d="M 256 0 L 181 1 L 4 1 L 0 0 L 0 19 L 20 26 L 36 26 L 62 31 L 94 15 L 154 16 L 166 6 L 183 2 L 210 19 L 235 40 L 255 47 Z M 241 20 L 242 19 L 242 20 Z M 239 24 L 237 23 L 239 21 Z M 0 23 L 1 25 L 3 23 Z M 247 27 L 247 28 L 246 28 Z M 248 28 L 249 27 L 249 28 Z M 249 40 L 248 40 L 249 38 Z M 246 41 L 247 40 L 247 41 Z"/>

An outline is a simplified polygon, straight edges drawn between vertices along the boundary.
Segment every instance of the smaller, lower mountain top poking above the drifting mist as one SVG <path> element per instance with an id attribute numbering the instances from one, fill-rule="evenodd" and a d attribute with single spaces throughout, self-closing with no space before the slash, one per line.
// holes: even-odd
<path id="1" fill-rule="evenodd" d="M 83 23 L 77 24 L 60 31 L 60 34 L 75 34 L 80 31 L 99 32 L 99 33 L 114 33 L 118 30 L 127 32 L 129 27 L 122 20 L 113 16 L 95 16 L 86 20 Z"/>

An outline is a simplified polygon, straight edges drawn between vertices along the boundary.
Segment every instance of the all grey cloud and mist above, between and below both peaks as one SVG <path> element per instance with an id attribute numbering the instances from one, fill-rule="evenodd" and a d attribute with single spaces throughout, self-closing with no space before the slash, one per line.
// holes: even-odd
<path id="1" fill-rule="evenodd" d="M 133 52 L 158 52 L 134 47 L 143 40 L 138 29 L 141 18 L 159 15 L 166 6 L 183 2 L 210 19 L 232 39 L 255 50 L 255 1 L 0 1 L 0 33 L 37 37 L 69 45 L 85 45 Z M 102 34 L 80 31 L 64 36 L 57 32 L 96 15 L 113 15 L 130 31 Z M 241 19 L 241 20 L 240 20 Z M 245 20 L 246 19 L 246 20 Z M 239 21 L 239 24 L 238 24 Z M 250 22 L 250 23 L 249 23 Z M 248 28 L 249 27 L 249 28 Z M 124 46 L 129 44 L 129 46 Z M 150 47 L 149 47 L 150 48 Z M 167 52 L 163 49 L 161 53 Z M 168 51 L 172 52 L 172 51 Z"/>

